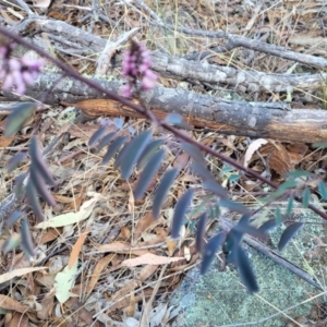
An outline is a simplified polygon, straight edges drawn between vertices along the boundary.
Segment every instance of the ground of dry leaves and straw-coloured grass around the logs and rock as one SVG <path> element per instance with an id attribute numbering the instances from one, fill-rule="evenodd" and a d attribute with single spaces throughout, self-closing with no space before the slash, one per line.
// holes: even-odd
<path id="1" fill-rule="evenodd" d="M 327 58 L 325 1 L 161 0 L 146 1 L 144 4 L 138 0 L 58 0 L 52 1 L 51 7 L 47 0 L 36 0 L 33 4 L 29 2 L 35 14 L 65 22 L 106 40 L 117 40 L 131 28 L 140 27 L 135 35 L 138 40 L 152 50 L 175 57 L 211 51 L 226 45 L 221 38 L 178 31 L 178 27 L 187 27 L 223 31 L 296 52 Z M 26 12 L 20 5 L 5 2 L 1 5 L 0 15 L 1 24 L 14 26 L 26 17 Z M 158 20 L 172 28 L 158 27 Z M 73 47 L 70 48 L 69 43 L 69 49 L 63 49 L 52 45 L 53 38 L 46 33 L 41 37 L 58 59 L 85 75 L 95 73 L 96 59 L 100 53 L 81 56 L 71 51 Z M 118 53 L 128 47 L 129 43 L 122 44 L 117 49 Z M 317 68 L 241 47 L 219 53 L 213 51 L 206 60 L 217 65 L 265 73 L 324 73 L 324 70 Z M 122 80 L 121 66 L 116 65 L 114 56 L 111 63 L 108 80 Z M 203 85 L 196 81 L 162 76 L 159 76 L 158 83 L 226 99 L 286 101 L 303 108 L 327 108 L 326 81 L 322 81 L 319 87 L 310 93 L 296 89 L 291 94 L 242 93 L 223 84 Z M 152 182 L 146 195 L 135 201 L 133 189 L 138 171 L 129 181 L 124 181 L 119 170 L 113 169 L 112 160 L 104 166 L 104 153 L 95 154 L 87 146 L 90 135 L 99 128 L 99 119 L 73 123 L 75 113 L 73 107 L 53 106 L 31 118 L 14 137 L 0 135 L 0 167 L 5 167 L 17 152 L 27 149 L 33 134 L 39 135 L 40 144 L 46 148 L 56 135 L 65 132 L 65 137 L 46 157 L 58 182 L 58 187 L 52 190 L 58 205 L 53 208 L 44 206 L 45 216 L 51 223 L 40 223 L 31 210 L 27 211 L 37 253 L 35 261 L 27 259 L 20 250 L 1 254 L 0 314 L 3 318 L 0 326 L 156 326 L 148 323 L 148 317 L 154 319 L 158 307 L 162 314 L 161 326 L 170 326 L 173 310 L 167 306 L 162 308 L 161 304 L 169 301 L 187 270 L 198 265 L 194 226 L 196 218 L 215 203 L 215 197 L 202 189 L 201 180 L 190 169 L 190 155 L 180 149 L 178 141 L 169 133 L 156 131 L 156 136 L 165 138 L 168 153 L 160 174 L 169 167 L 180 169 L 181 173 L 170 190 L 160 219 L 154 220 L 152 202 L 157 179 Z M 4 119 L 3 116 L 0 126 Z M 125 135 L 150 126 L 145 119 L 112 118 L 112 126 L 119 124 L 122 124 L 122 133 Z M 187 133 L 225 156 L 245 162 L 277 184 L 283 182 L 284 172 L 293 169 L 326 178 L 326 150 L 313 147 L 312 144 L 264 138 L 254 142 L 245 136 L 222 135 L 219 131 L 201 129 Z M 209 155 L 205 158 L 211 173 L 228 190 L 233 201 L 257 208 L 259 197 L 271 192 L 253 178 L 233 179 L 238 174 L 237 170 Z M 11 173 L 4 169 L 0 172 L 0 201 L 11 196 L 14 179 L 28 169 L 28 162 L 24 160 Z M 310 186 L 315 193 L 315 201 L 324 208 L 325 203 L 315 182 Z M 189 187 L 195 190 L 187 214 L 189 223 L 182 231 L 181 240 L 175 242 L 169 239 L 173 208 L 177 199 Z M 280 208 L 286 208 L 287 204 L 287 198 L 278 202 Z M 274 215 L 274 210 L 269 210 Z M 239 218 L 230 211 L 222 214 L 231 220 Z M 210 230 L 211 226 L 215 226 L 215 219 L 209 221 L 207 229 Z M 13 230 L 3 229 L 0 245 L 16 230 L 16 227 Z M 327 240 L 325 235 L 316 235 L 308 242 L 312 242 L 311 255 L 315 256 L 324 276 L 327 269 Z M 155 258 L 147 258 L 147 254 L 155 255 Z M 304 259 L 305 253 L 302 256 Z M 144 261 L 140 263 L 137 258 Z M 74 269 L 71 269 L 71 262 L 76 263 Z M 324 280 L 319 282 L 324 284 Z M 310 295 L 307 301 L 315 303 L 315 299 L 311 300 Z M 318 324 L 326 313 L 323 305 L 317 303 L 316 306 L 319 314 L 314 323 Z M 304 326 L 301 323 L 298 325 Z"/>

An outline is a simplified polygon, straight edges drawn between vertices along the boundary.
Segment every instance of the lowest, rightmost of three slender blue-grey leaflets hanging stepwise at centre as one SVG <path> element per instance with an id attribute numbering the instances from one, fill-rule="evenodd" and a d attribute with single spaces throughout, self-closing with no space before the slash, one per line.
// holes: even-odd
<path id="1" fill-rule="evenodd" d="M 173 218 L 172 218 L 172 225 L 171 225 L 171 238 L 178 239 L 180 237 L 180 230 L 181 227 L 184 223 L 185 215 L 189 209 L 189 206 L 191 205 L 191 201 L 193 197 L 194 191 L 192 189 L 189 189 L 178 201 Z"/>

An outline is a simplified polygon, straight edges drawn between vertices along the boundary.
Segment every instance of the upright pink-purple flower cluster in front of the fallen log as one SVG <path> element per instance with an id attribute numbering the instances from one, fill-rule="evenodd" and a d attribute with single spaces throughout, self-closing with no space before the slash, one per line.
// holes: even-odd
<path id="1" fill-rule="evenodd" d="M 132 96 L 132 88 L 136 85 L 137 77 L 141 78 L 141 87 L 146 90 L 153 88 L 158 76 L 150 70 L 150 52 L 142 43 L 131 41 L 131 49 L 124 52 L 123 72 L 128 77 L 128 84 L 123 88 L 125 97 Z"/>

